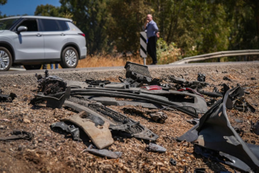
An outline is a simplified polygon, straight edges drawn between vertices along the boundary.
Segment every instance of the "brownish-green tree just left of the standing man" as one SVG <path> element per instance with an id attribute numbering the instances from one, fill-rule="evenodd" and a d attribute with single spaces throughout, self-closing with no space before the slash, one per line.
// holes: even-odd
<path id="1" fill-rule="evenodd" d="M 113 0 L 108 7 L 111 12 L 107 31 L 109 38 L 119 52 L 137 52 L 140 48 L 140 31 L 143 30 L 149 7 L 141 0 Z"/>

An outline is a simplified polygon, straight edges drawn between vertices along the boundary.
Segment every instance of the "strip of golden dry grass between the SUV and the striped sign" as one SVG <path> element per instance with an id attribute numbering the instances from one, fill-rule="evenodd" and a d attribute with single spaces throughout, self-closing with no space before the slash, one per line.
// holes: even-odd
<path id="1" fill-rule="evenodd" d="M 139 56 L 113 57 L 111 55 L 87 55 L 85 59 L 79 60 L 77 68 L 125 66 L 127 61 L 138 64 L 144 64 L 143 58 Z M 146 64 L 150 64 L 151 61 L 151 58 L 147 59 Z"/>

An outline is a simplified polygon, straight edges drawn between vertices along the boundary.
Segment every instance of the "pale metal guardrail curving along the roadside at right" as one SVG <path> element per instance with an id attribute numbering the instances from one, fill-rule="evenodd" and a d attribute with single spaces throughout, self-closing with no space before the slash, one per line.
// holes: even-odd
<path id="1" fill-rule="evenodd" d="M 231 57 L 231 56 L 241 56 L 241 55 L 259 55 L 259 49 L 254 50 L 228 50 L 228 51 L 220 51 L 215 53 L 208 53 L 203 55 L 196 55 L 193 57 L 186 57 L 179 61 L 175 61 L 170 64 L 184 64 L 189 62 L 201 61 L 205 59 L 212 59 L 212 58 L 220 58 L 220 57 Z"/>

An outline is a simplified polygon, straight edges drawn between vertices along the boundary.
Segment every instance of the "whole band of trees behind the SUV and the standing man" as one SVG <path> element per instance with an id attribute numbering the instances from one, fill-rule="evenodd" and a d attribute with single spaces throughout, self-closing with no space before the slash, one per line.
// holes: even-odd
<path id="1" fill-rule="evenodd" d="M 181 50 L 181 56 L 259 48 L 256 0 L 60 0 L 60 3 L 60 7 L 38 6 L 35 15 L 70 16 L 86 34 L 91 54 L 109 53 L 113 49 L 137 53 L 148 13 L 153 15 L 161 33 L 163 44 L 158 46 L 174 45 Z"/>

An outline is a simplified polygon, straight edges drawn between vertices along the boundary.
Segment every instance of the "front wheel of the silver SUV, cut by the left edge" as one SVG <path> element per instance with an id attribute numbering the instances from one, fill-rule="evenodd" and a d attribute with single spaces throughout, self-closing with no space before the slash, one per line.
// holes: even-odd
<path id="1" fill-rule="evenodd" d="M 7 71 L 12 65 L 12 55 L 5 47 L 0 47 L 0 71 Z"/>

